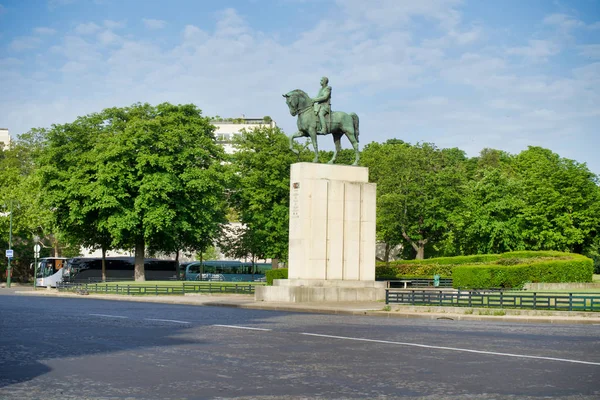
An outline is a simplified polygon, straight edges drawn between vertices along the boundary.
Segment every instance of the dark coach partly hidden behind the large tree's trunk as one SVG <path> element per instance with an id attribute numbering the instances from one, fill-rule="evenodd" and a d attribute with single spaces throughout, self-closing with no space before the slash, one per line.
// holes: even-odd
<path id="1" fill-rule="evenodd" d="M 134 279 L 134 257 L 106 257 L 106 280 Z M 175 260 L 146 258 L 144 274 L 148 281 L 177 280 L 178 263 Z M 88 283 L 102 281 L 102 258 L 75 257 L 67 261 L 64 282 Z"/>

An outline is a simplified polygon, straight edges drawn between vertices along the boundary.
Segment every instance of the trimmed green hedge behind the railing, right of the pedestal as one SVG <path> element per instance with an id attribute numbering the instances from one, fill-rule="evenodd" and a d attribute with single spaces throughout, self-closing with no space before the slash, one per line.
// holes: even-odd
<path id="1" fill-rule="evenodd" d="M 522 287 L 526 282 L 591 282 L 593 261 L 558 251 L 514 251 L 503 254 L 440 257 L 377 263 L 378 280 L 408 276 L 452 278 L 454 287 Z"/>

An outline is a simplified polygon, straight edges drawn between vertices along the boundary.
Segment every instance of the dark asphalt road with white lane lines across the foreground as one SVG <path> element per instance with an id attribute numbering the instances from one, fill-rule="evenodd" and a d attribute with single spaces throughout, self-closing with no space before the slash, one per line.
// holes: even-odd
<path id="1" fill-rule="evenodd" d="M 0 293 L 0 399 L 600 398 L 600 326 Z"/>

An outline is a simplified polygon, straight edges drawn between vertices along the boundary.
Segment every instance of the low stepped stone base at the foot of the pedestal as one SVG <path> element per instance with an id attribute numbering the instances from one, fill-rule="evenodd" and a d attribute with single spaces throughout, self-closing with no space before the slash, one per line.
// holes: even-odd
<path id="1" fill-rule="evenodd" d="M 341 279 L 275 279 L 273 286 L 257 286 L 256 301 L 284 303 L 385 300 L 386 282 Z"/>

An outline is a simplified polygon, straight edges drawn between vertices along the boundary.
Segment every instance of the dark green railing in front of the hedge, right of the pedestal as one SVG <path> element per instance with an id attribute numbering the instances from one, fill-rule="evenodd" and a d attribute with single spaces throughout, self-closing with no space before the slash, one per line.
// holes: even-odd
<path id="1" fill-rule="evenodd" d="M 600 311 L 600 293 L 527 293 L 386 289 L 385 304 L 529 310 Z"/>

